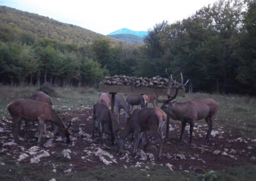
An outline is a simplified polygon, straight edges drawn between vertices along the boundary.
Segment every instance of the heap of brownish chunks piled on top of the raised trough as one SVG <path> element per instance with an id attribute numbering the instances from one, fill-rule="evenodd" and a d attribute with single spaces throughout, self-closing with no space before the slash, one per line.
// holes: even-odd
<path id="1" fill-rule="evenodd" d="M 105 76 L 105 78 L 100 82 L 107 85 L 132 85 L 135 87 L 168 87 L 169 80 L 167 78 L 147 78 L 147 77 L 136 77 L 136 76 Z M 180 85 L 179 82 L 171 81 L 170 88 L 174 88 Z"/>

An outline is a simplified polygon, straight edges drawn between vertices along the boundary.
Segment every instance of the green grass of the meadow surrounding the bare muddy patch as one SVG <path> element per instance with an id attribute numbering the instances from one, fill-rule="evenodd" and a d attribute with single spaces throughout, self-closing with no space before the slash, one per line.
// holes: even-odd
<path id="1" fill-rule="evenodd" d="M 38 87 L 0 87 L 0 118 L 9 116 L 6 105 L 18 98 L 29 98 Z M 99 92 L 93 88 L 84 87 L 55 87 L 58 97 L 53 98 L 54 108 L 58 113 L 64 110 L 92 108 Z M 255 139 L 256 129 L 256 98 L 239 95 L 221 95 L 195 93 L 186 94 L 179 98 L 180 102 L 189 99 L 212 98 L 218 102 L 220 109 L 214 127 L 223 127 L 223 130 L 238 134 L 244 138 Z M 150 105 L 151 106 L 151 105 Z M 199 122 L 205 124 L 204 120 Z M 254 145 L 255 146 L 255 145 Z M 64 175 L 63 171 L 52 172 L 52 168 L 40 164 L 19 166 L 10 157 L 1 157 L 0 180 L 256 180 L 255 162 L 246 163 L 224 170 L 204 170 L 198 173 L 190 171 L 170 171 L 166 166 L 155 165 L 148 170 L 140 168 L 100 168 L 98 170 L 84 170 Z M 60 163 L 60 168 L 67 168 L 68 163 Z M 15 173 L 15 174 L 13 174 Z M 62 174 L 61 174 L 62 173 Z"/>

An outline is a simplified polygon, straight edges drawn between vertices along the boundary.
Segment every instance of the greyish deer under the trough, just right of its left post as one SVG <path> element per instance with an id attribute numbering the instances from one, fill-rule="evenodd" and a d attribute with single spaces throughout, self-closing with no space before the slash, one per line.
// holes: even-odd
<path id="1" fill-rule="evenodd" d="M 126 119 L 129 115 L 129 108 L 123 98 L 122 95 L 120 94 L 115 94 L 115 109 L 116 109 L 116 112 L 117 112 L 117 122 L 118 124 L 120 124 L 120 111 L 121 109 L 124 110 L 125 112 L 125 115 L 126 115 Z"/>

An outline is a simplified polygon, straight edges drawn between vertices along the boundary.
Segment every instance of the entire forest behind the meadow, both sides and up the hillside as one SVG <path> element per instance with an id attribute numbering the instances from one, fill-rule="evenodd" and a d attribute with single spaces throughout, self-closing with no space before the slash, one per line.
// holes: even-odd
<path id="1" fill-rule="evenodd" d="M 72 25 L 60 31 L 61 23 L 52 26 L 52 36 L 42 32 L 40 18 L 32 20 L 42 29 L 31 18 L 22 18 L 24 27 L 15 23 L 35 17 L 16 11 L 0 8 L 0 85 L 97 86 L 104 76 L 165 77 L 167 68 L 178 80 L 180 72 L 189 78 L 188 92 L 255 95 L 256 1 L 216 1 L 191 17 L 163 21 L 141 45 L 81 38 L 81 30 L 67 28 Z M 65 29 L 72 32 L 66 39 Z"/>

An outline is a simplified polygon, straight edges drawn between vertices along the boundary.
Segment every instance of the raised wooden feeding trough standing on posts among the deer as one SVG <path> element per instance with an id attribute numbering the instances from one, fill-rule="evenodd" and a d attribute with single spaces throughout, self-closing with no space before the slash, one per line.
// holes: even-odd
<path id="1" fill-rule="evenodd" d="M 161 85 L 152 85 L 150 86 L 143 86 L 143 85 L 148 85 L 147 83 L 139 83 L 138 84 L 138 79 L 140 78 L 134 78 L 137 80 L 134 83 L 128 83 L 130 85 L 124 85 L 124 82 L 116 82 L 116 81 L 109 81 L 109 80 L 122 80 L 122 78 L 127 79 L 129 78 L 128 76 L 113 76 L 113 77 L 105 77 L 102 82 L 99 83 L 99 92 L 109 92 L 111 94 L 111 112 L 114 112 L 114 106 L 115 106 L 115 94 L 116 93 L 127 93 L 127 94 L 146 94 L 146 95 L 153 95 L 157 94 L 158 96 L 166 96 L 166 88 L 164 88 Z M 148 79 L 148 78 L 147 78 Z M 166 78 L 162 78 L 164 80 L 167 80 Z M 154 82 L 150 79 L 148 79 L 150 83 Z M 154 80 L 154 78 L 153 78 Z M 168 81 L 168 80 L 167 80 Z M 130 81 L 131 82 L 131 81 Z M 118 85 L 119 84 L 119 85 Z M 140 86 L 138 86 L 140 85 Z M 168 94 L 169 95 L 174 95 L 176 92 L 176 89 L 168 89 Z M 179 92 L 177 96 L 184 97 L 185 96 L 185 90 L 184 89 L 179 89 Z M 168 138 L 168 133 L 169 133 L 169 123 L 170 119 L 169 117 L 167 118 L 166 122 L 166 134 L 165 138 Z"/>

